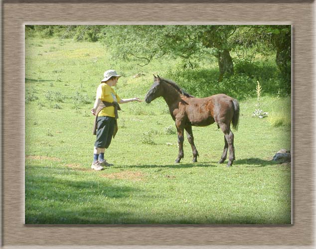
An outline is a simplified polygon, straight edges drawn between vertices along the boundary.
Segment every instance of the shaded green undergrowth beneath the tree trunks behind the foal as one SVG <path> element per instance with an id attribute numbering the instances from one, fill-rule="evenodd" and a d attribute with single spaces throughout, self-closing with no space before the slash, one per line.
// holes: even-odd
<path id="1" fill-rule="evenodd" d="M 218 68 L 183 68 L 175 65 L 165 75 L 175 81 L 189 94 L 203 98 L 214 94 L 227 94 L 238 100 L 256 96 L 257 81 L 265 89 L 265 94 L 281 96 L 291 94 L 291 79 L 287 79 L 278 70 L 275 58 L 254 61 L 252 57 L 234 59 L 234 75 L 224 76 L 218 81 Z"/>

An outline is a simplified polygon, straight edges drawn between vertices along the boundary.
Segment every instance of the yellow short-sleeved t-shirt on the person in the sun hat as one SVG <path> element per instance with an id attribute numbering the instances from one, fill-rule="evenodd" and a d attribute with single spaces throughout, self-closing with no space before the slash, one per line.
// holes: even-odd
<path id="1" fill-rule="evenodd" d="M 101 83 L 97 89 L 97 98 L 107 102 L 118 102 L 121 100 L 114 89 L 105 83 Z M 114 107 L 103 108 L 98 116 L 115 117 Z"/>

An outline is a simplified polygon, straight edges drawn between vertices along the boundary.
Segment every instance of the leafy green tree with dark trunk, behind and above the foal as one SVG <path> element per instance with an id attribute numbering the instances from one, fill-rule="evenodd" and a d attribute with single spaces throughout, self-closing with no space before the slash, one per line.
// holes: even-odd
<path id="1" fill-rule="evenodd" d="M 128 56 L 147 65 L 154 57 L 165 54 L 182 57 L 190 62 L 192 55 L 210 49 L 218 60 L 220 79 L 234 73 L 228 38 L 235 25 L 119 25 L 106 26 L 103 42 L 116 54 Z"/>

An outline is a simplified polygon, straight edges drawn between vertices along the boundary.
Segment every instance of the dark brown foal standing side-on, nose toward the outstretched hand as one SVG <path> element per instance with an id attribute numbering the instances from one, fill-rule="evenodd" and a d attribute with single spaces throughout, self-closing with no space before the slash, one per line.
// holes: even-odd
<path id="1" fill-rule="evenodd" d="M 193 126 L 207 126 L 217 123 L 224 133 L 224 150 L 218 163 L 223 163 L 229 149 L 227 167 L 235 160 L 234 134 L 230 124 L 237 130 L 239 121 L 239 104 L 225 94 L 216 94 L 207 98 L 195 98 L 181 89 L 174 82 L 154 75 L 154 84 L 145 97 L 146 103 L 151 103 L 162 97 L 167 103 L 170 115 L 175 122 L 178 133 L 179 153 L 175 162 L 178 163 L 184 156 L 183 133 L 186 131 L 187 139 L 191 145 L 193 162 L 197 162 L 198 152 L 194 144 Z"/>

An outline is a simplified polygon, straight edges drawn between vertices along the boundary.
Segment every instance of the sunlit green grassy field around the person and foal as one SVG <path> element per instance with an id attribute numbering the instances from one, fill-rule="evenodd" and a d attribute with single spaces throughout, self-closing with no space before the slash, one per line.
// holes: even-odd
<path id="1" fill-rule="evenodd" d="M 262 120 L 252 117 L 256 99 L 240 101 L 230 168 L 217 164 L 224 139 L 216 124 L 193 127 L 197 163 L 185 140 L 184 158 L 174 164 L 177 135 L 164 101 L 123 104 L 105 154 L 114 166 L 90 168 L 90 109 L 103 72 L 123 74 L 121 98 L 144 99 L 153 74 L 165 77 L 174 63 L 140 67 L 115 61 L 100 43 L 26 40 L 26 224 L 291 223 L 291 164 L 271 161 L 280 148 L 291 149 L 290 97 L 263 96 L 269 118 Z"/>

